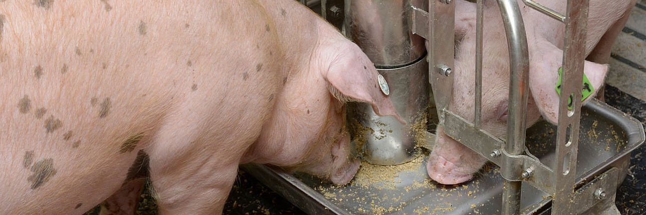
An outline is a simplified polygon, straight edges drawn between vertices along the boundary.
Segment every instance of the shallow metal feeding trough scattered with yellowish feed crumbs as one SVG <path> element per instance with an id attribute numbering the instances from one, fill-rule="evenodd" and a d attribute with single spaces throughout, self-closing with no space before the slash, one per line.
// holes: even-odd
<path id="1" fill-rule="evenodd" d="M 550 168 L 554 168 L 555 130 L 554 125 L 545 121 L 527 130 L 528 150 Z M 641 123 L 636 119 L 605 103 L 591 101 L 582 110 L 579 138 L 581 154 L 586 156 L 578 157 L 579 171 L 576 173 L 576 181 L 589 181 L 590 183 L 583 185 L 581 195 L 594 199 L 593 194 L 584 193 L 590 190 L 594 193 L 598 187 L 603 187 L 606 191 L 612 189 L 611 184 L 596 183 L 603 180 L 596 176 L 604 177 L 606 174 L 612 178 L 614 173 L 608 171 L 616 168 L 616 175 L 619 180 L 622 179 L 626 174 L 630 152 L 643 143 L 645 136 Z M 280 169 L 264 165 L 246 165 L 242 168 L 309 214 L 501 213 L 500 201 L 504 179 L 495 167 L 483 170 L 474 180 L 461 185 L 439 185 L 429 181 L 424 162 L 412 163 L 410 169 L 397 170 L 392 173 L 395 177 L 387 181 L 375 180 L 373 183 L 362 184 L 359 182 L 365 178 L 355 178 L 346 186 L 331 185 L 306 174 L 287 174 Z M 384 171 L 373 176 L 379 177 L 396 167 L 401 166 L 379 167 Z M 362 170 L 364 168 L 367 168 L 366 164 L 362 166 Z M 524 214 L 547 212 L 552 201 L 547 193 L 526 183 L 523 183 L 522 190 L 521 207 Z M 606 200 L 610 201 L 610 198 Z M 604 200 L 596 202 L 600 201 Z"/>

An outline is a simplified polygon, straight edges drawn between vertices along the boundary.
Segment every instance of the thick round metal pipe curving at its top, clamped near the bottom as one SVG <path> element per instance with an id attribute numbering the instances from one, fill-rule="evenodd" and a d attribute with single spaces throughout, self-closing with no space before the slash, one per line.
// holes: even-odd
<path id="1" fill-rule="evenodd" d="M 505 151 L 512 155 L 525 151 L 527 99 L 529 94 L 529 54 L 525 25 L 515 0 L 498 0 L 510 57 L 510 86 Z M 511 161 L 512 159 L 507 159 Z M 514 170 L 514 164 L 503 163 L 501 172 Z M 517 174 L 521 174 L 518 172 Z M 503 214 L 518 214 L 521 205 L 521 181 L 507 181 L 503 190 Z"/>

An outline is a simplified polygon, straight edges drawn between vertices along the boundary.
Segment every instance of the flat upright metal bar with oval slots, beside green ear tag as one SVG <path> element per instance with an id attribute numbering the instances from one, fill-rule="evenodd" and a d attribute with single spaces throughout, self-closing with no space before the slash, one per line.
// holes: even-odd
<path id="1" fill-rule="evenodd" d="M 556 167 L 552 214 L 574 214 L 574 179 L 581 118 L 581 87 L 589 0 L 569 0 L 565 22 L 565 47 L 563 48 L 563 82 L 559 99 L 559 120 L 556 146 Z M 556 72 L 556 71 L 554 71 Z M 574 103 L 568 110 L 568 99 Z"/>

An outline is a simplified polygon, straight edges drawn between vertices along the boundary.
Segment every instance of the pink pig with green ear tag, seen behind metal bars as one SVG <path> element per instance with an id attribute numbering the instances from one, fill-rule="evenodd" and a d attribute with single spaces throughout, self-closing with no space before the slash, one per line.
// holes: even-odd
<path id="1" fill-rule="evenodd" d="M 566 1 L 539 1 L 565 14 Z M 474 120 L 474 71 L 475 71 L 475 3 L 455 1 L 456 48 L 453 74 L 453 97 L 449 109 L 463 118 Z M 527 125 L 540 118 L 556 123 L 558 95 L 556 82 L 563 57 L 565 25 L 525 6 L 519 1 L 528 41 L 530 57 L 530 99 Z M 610 46 L 627 21 L 634 0 L 590 0 L 585 74 L 595 92 L 603 84 L 610 57 Z M 507 130 L 507 101 L 509 88 L 509 59 L 505 30 L 495 1 L 485 1 L 485 26 L 483 48 L 483 103 L 482 127 L 494 136 L 505 138 Z M 443 184 L 468 181 L 486 159 L 454 139 L 446 136 L 442 127 L 437 128 L 435 147 L 426 169 L 429 176 Z"/>

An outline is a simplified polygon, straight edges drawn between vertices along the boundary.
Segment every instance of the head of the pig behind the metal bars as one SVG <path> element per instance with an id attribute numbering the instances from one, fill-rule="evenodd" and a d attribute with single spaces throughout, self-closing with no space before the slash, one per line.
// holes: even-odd
<path id="1" fill-rule="evenodd" d="M 475 97 L 475 7 L 472 3 L 457 1 L 455 32 L 459 45 L 456 48 L 453 72 L 452 100 L 448 110 L 468 121 L 474 120 Z M 497 14 L 495 14 L 497 15 Z M 547 19 L 547 18 L 546 18 Z M 497 25 L 497 26 L 496 26 Z M 483 82 L 481 127 L 490 134 L 506 139 L 507 106 L 509 95 L 509 59 L 505 31 L 501 23 L 487 20 L 485 15 L 485 41 L 483 45 Z M 526 114 L 530 127 L 541 115 L 556 123 L 559 96 L 555 87 L 557 71 L 561 67 L 563 50 L 552 45 L 539 34 L 528 29 L 530 54 L 530 97 Z M 594 89 L 603 84 L 606 65 L 585 61 L 585 74 Z M 592 96 L 590 96 L 592 97 Z M 485 164 L 486 158 L 455 141 L 437 128 L 435 147 L 426 169 L 429 176 L 443 184 L 468 181 Z"/>

